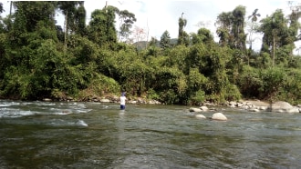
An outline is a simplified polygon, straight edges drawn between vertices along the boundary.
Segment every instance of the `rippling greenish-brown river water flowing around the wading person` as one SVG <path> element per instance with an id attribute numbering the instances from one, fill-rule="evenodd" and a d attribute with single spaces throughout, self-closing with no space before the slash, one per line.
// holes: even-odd
<path id="1" fill-rule="evenodd" d="M 301 114 L 0 100 L 0 168 L 300 168 Z"/>

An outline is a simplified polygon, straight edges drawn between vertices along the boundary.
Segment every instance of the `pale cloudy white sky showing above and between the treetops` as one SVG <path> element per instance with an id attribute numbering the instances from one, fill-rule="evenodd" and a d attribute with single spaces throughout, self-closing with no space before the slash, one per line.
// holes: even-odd
<path id="1" fill-rule="evenodd" d="M 160 40 L 161 35 L 167 30 L 171 38 L 178 36 L 178 20 L 182 16 L 187 20 L 184 31 L 197 33 L 201 27 L 208 28 L 212 31 L 214 39 L 218 39 L 215 34 L 214 23 L 217 15 L 223 12 L 231 12 L 238 5 L 244 5 L 246 8 L 246 17 L 252 15 L 254 9 L 258 9 L 261 17 L 272 15 L 276 9 L 282 9 L 285 15 L 290 13 L 288 1 L 285 0 L 86 0 L 85 8 L 87 12 L 87 23 L 90 15 L 95 9 L 102 9 L 106 3 L 118 7 L 119 10 L 128 10 L 133 13 L 137 22 L 134 24 L 145 30 L 149 30 L 150 37 Z M 9 11 L 8 1 L 4 1 L 5 11 Z M 297 2 L 295 2 L 295 5 Z M 183 13 L 183 15 L 182 15 Z M 63 17 L 58 15 L 59 25 L 63 25 Z M 118 23 L 117 23 L 118 24 Z M 261 37 L 254 42 L 254 47 L 260 48 Z M 296 46 L 299 47 L 299 46 Z"/>

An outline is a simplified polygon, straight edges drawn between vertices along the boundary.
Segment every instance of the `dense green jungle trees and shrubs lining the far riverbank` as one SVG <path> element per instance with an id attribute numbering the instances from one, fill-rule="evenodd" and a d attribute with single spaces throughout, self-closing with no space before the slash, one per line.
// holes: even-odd
<path id="1" fill-rule="evenodd" d="M 126 91 L 165 104 L 301 101 L 301 57 L 293 54 L 300 6 L 290 15 L 277 9 L 260 19 L 257 9 L 246 16 L 241 5 L 223 12 L 215 23 L 219 42 L 203 27 L 186 33 L 181 16 L 176 43 L 165 31 L 138 48 L 130 40 L 136 18 L 127 10 L 106 5 L 87 25 L 84 2 L 12 5 L 14 13 L 0 18 L 1 98 L 84 101 Z M 65 15 L 64 28 L 56 25 L 57 12 Z M 252 48 L 254 33 L 263 35 L 260 52 Z"/>

